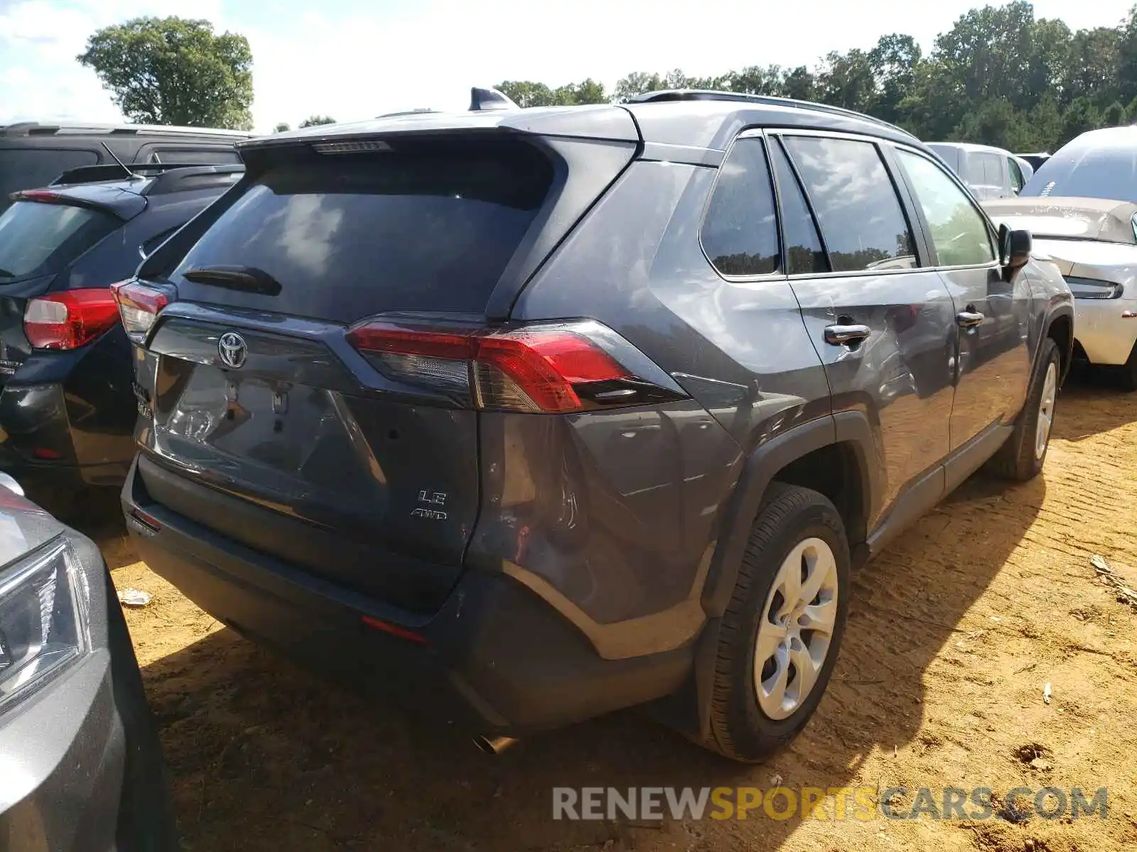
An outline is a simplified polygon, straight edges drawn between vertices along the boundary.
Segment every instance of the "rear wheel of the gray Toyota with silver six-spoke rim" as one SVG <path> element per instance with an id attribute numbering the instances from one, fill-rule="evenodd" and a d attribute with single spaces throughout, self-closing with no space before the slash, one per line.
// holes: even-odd
<path id="1" fill-rule="evenodd" d="M 845 524 L 828 498 L 770 486 L 722 617 L 704 746 L 755 762 L 805 727 L 845 633 L 849 562 Z"/>

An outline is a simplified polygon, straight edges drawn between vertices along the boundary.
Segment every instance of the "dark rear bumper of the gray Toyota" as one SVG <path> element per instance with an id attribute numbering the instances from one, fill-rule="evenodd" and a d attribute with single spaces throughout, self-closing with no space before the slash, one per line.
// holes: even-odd
<path id="1" fill-rule="evenodd" d="M 465 571 L 437 613 L 416 619 L 153 503 L 136 462 L 123 508 L 142 560 L 222 623 L 355 690 L 471 733 L 518 736 L 646 703 L 678 690 L 694 665 L 694 643 L 601 659 L 556 610 L 504 574 Z"/>

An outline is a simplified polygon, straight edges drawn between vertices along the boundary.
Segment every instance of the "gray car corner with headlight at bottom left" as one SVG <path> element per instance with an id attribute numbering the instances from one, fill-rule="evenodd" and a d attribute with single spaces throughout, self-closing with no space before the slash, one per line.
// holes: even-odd
<path id="1" fill-rule="evenodd" d="M 157 727 L 99 549 L 0 474 L 0 849 L 177 849 Z"/>

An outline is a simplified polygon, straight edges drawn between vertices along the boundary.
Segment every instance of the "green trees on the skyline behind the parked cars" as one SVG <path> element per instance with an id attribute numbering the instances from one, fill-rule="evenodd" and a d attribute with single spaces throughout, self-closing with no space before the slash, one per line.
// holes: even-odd
<path id="1" fill-rule="evenodd" d="M 214 33 L 207 20 L 135 18 L 94 33 L 77 60 L 131 120 L 252 127 L 248 40 Z M 498 87 L 522 107 L 620 102 L 661 89 L 781 95 L 868 112 L 924 140 L 1054 151 L 1084 131 L 1137 122 L 1137 7 L 1118 26 L 1074 32 L 1015 0 L 966 12 L 927 55 L 911 35 L 889 33 L 870 50 L 831 52 L 812 66 L 760 64 L 706 77 L 637 72 L 612 91 L 591 77 Z M 300 126 L 330 122 L 312 116 Z"/>

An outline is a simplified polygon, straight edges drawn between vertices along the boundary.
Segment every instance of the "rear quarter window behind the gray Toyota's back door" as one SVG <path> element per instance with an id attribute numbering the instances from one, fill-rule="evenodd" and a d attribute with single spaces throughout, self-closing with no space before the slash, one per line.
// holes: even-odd
<path id="1" fill-rule="evenodd" d="M 778 272 L 774 193 L 761 139 L 741 139 L 719 167 L 706 219 L 703 250 L 723 275 Z"/>

